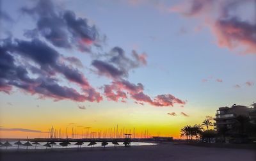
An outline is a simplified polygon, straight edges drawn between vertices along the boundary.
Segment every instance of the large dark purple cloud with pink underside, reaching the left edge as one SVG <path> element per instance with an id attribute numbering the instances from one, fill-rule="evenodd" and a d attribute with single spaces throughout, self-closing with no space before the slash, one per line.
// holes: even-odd
<path id="1" fill-rule="evenodd" d="M 0 50 L 0 91 L 10 93 L 12 86 L 15 86 L 31 95 L 37 93 L 41 98 L 78 102 L 102 100 L 100 93 L 90 86 L 81 72 L 61 63 L 61 55 L 38 39 L 2 40 Z M 34 77 L 29 73 L 33 73 Z M 56 73 L 62 74 L 69 82 L 75 82 L 83 93 L 58 84 L 58 80 L 52 78 Z"/>

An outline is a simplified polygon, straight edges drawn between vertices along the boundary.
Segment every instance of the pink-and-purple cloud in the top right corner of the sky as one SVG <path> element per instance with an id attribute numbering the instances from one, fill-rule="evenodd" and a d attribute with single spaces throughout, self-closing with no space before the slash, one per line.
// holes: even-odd
<path id="1" fill-rule="evenodd" d="M 255 10 L 255 1 L 193 0 L 185 1 L 170 8 L 186 17 L 205 20 L 218 40 L 220 47 L 237 49 L 243 53 L 256 53 L 256 23 L 252 17 L 244 19 L 237 8 L 249 4 Z M 249 11 L 250 12 L 250 11 Z"/>

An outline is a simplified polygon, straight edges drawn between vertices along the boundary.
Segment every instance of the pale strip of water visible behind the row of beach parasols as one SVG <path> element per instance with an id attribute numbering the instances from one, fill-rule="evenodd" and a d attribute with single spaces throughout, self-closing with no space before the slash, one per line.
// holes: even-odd
<path id="1" fill-rule="evenodd" d="M 9 141 L 10 144 L 12 144 L 12 146 L 10 147 L 7 147 L 7 150 L 17 150 L 18 146 L 15 145 L 16 141 Z M 21 141 L 22 144 L 24 144 L 26 141 Z M 4 142 L 2 142 L 4 143 Z M 30 142 L 32 143 L 32 142 Z M 40 145 L 37 145 L 36 146 L 36 149 L 46 149 L 45 146 L 43 146 L 44 144 L 46 144 L 47 142 L 39 142 Z M 68 146 L 64 147 L 64 148 L 77 148 L 77 145 L 76 142 L 70 142 L 71 144 L 68 144 Z M 81 148 L 91 148 L 91 146 L 87 146 L 90 142 L 84 142 L 83 145 L 81 145 Z M 101 146 L 101 142 L 96 142 L 97 144 L 95 144 L 93 147 L 103 147 Z M 119 145 L 116 145 L 116 146 L 124 146 L 124 142 L 118 142 Z M 156 145 L 155 143 L 150 143 L 150 142 L 131 142 L 131 146 L 152 146 L 152 145 Z M 112 142 L 108 142 L 108 145 L 106 147 L 113 147 L 115 146 L 114 144 L 112 144 Z M 19 146 L 19 149 L 21 150 L 26 150 L 26 146 Z M 52 149 L 62 149 L 63 147 L 60 146 L 60 142 L 56 142 L 56 145 L 53 145 Z M 34 150 L 35 149 L 35 145 L 33 146 L 28 146 L 28 150 Z M 48 148 L 48 149 L 51 149 L 51 148 Z M 0 150 L 3 151 L 3 150 L 6 150 L 6 147 L 1 147 L 0 146 Z"/>

